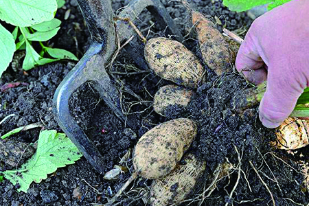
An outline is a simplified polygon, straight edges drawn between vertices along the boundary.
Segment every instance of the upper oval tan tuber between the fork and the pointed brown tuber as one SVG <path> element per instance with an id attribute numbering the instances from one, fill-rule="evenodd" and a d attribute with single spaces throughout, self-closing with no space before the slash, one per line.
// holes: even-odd
<path id="1" fill-rule="evenodd" d="M 204 81 L 205 69 L 183 44 L 168 38 L 152 38 L 145 47 L 150 69 L 165 80 L 197 88 Z"/>

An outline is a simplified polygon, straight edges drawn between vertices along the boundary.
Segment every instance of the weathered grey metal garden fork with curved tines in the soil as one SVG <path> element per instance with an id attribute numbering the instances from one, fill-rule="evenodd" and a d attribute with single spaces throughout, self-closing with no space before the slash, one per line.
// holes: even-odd
<path id="1" fill-rule="evenodd" d="M 84 82 L 92 81 L 95 82 L 95 89 L 98 90 L 101 98 L 122 122 L 125 122 L 128 118 L 135 118 L 122 113 L 119 91 L 106 72 L 106 65 L 117 50 L 117 41 L 122 43 L 128 40 L 130 36 L 135 35 L 135 30 L 125 21 L 114 21 L 111 0 L 78 0 L 78 4 L 87 22 L 92 43 L 77 65 L 58 86 L 54 95 L 54 114 L 60 128 L 93 165 L 93 168 L 98 172 L 104 172 L 102 155 L 82 128 L 78 126 L 69 111 L 69 98 Z M 177 30 L 160 0 L 130 1 L 117 17 L 134 21 L 145 8 L 157 17 L 159 23 L 168 26 L 171 34 L 181 38 L 179 30 Z M 141 47 L 129 49 L 139 49 L 139 52 L 142 52 Z M 136 54 L 136 51 L 132 53 Z M 144 58 L 134 59 L 139 67 L 147 67 Z M 130 128 L 135 129 L 139 126 L 137 119 L 128 122 Z"/>

